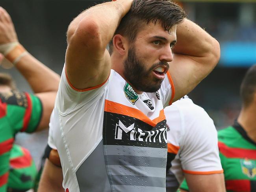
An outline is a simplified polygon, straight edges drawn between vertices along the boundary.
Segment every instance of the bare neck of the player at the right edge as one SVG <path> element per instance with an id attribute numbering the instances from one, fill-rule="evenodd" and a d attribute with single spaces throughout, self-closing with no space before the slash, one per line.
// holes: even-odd
<path id="1" fill-rule="evenodd" d="M 256 106 L 242 107 L 237 122 L 245 129 L 248 137 L 256 142 Z"/>

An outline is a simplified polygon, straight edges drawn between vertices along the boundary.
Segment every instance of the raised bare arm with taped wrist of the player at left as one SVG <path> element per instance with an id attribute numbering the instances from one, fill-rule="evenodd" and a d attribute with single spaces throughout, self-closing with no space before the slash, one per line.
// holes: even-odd
<path id="1" fill-rule="evenodd" d="M 2 7 L 0 7 L 0 53 L 15 64 L 42 102 L 43 114 L 37 131 L 48 127 L 58 90 L 59 75 L 23 48 L 18 41 L 11 17 Z"/>

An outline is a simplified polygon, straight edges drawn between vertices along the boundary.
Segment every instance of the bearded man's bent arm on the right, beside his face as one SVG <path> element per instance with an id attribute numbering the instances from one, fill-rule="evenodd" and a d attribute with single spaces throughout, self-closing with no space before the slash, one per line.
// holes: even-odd
<path id="1" fill-rule="evenodd" d="M 173 78 L 174 101 L 193 90 L 217 65 L 219 42 L 194 22 L 185 19 L 177 26 L 177 44 L 169 72 Z"/>

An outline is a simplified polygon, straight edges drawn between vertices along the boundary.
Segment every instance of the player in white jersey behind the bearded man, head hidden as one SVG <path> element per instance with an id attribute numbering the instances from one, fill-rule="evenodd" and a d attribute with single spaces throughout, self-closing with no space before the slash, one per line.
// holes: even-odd
<path id="1" fill-rule="evenodd" d="M 224 192 L 217 130 L 202 107 L 184 96 L 165 107 L 167 120 L 167 192 L 176 192 L 184 177 L 196 192 Z"/>

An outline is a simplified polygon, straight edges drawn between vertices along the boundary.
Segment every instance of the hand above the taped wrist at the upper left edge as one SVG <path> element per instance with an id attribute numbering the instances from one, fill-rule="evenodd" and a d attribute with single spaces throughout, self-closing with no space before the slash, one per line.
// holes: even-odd
<path id="1" fill-rule="evenodd" d="M 7 11 L 0 7 L 0 44 L 18 41 L 13 22 Z"/>

